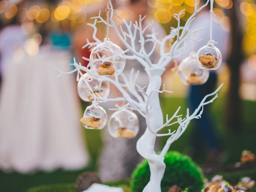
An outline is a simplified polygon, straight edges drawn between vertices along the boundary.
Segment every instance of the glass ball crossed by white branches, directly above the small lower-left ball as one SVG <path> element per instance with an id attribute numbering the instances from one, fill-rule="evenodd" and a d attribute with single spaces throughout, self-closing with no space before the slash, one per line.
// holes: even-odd
<path id="1" fill-rule="evenodd" d="M 84 80 L 88 82 L 92 91 Z M 85 73 L 80 77 L 77 83 L 77 92 L 83 101 L 91 102 L 94 100 L 94 98 L 87 91 L 95 94 L 97 97 L 107 98 L 110 92 L 110 84 L 108 81 L 104 81 L 101 78 L 93 76 L 89 73 Z"/>

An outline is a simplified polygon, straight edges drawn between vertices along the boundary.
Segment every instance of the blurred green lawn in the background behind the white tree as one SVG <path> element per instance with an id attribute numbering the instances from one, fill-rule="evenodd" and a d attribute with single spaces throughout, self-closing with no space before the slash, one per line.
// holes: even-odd
<path id="1" fill-rule="evenodd" d="M 222 145 L 225 147 L 226 163 L 239 161 L 242 150 L 248 149 L 256 153 L 254 136 L 256 135 L 255 109 L 256 102 L 243 101 L 244 126 L 242 132 L 238 134 L 227 133 L 223 126 L 224 120 L 224 98 L 217 98 L 211 104 L 213 118 L 216 123 L 216 129 L 222 138 Z M 178 106 L 182 106 L 180 114 L 186 113 L 186 99 L 184 98 L 161 98 L 163 113 L 173 114 Z M 187 153 L 190 143 L 190 133 L 192 126 L 189 125 L 186 132 L 179 140 L 174 142 L 171 150 L 178 150 Z M 77 176 L 85 170 L 97 170 L 98 156 L 102 146 L 101 130 L 85 130 L 84 136 L 86 146 L 92 160 L 90 166 L 86 169 L 75 171 L 55 170 L 52 172 L 36 172 L 34 174 L 5 173 L 0 171 L 0 192 L 24 192 L 28 188 L 38 185 L 74 183 Z M 114 138 L 113 138 L 114 139 Z M 160 146 L 163 146 L 167 137 L 160 140 Z M 239 142 L 238 142 L 239 141 Z M 255 178 L 256 179 L 256 178 Z"/>

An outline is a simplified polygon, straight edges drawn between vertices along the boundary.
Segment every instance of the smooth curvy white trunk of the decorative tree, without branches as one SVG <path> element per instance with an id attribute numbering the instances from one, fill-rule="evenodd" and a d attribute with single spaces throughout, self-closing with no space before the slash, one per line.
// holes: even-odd
<path id="1" fill-rule="evenodd" d="M 161 75 L 163 72 L 164 69 L 158 68 L 152 68 L 147 71 L 150 80 L 148 91 L 146 92 L 147 94 L 149 94 L 151 90 L 160 90 L 162 84 Z M 152 110 L 148 112 L 147 126 L 150 126 L 152 130 L 156 130 L 163 125 L 164 121 L 158 92 L 152 94 L 149 105 L 151 105 L 152 102 Z M 145 186 L 143 192 L 161 192 L 161 181 L 166 166 L 164 164 L 164 157 L 157 155 L 154 151 L 155 141 L 156 134 L 150 132 L 147 127 L 145 133 L 140 137 L 136 145 L 138 153 L 148 160 L 150 167 L 150 181 Z"/>

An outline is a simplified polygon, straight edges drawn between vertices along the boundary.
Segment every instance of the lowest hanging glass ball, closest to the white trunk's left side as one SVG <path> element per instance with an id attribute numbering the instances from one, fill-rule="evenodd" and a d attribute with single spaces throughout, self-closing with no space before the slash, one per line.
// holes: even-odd
<path id="1" fill-rule="evenodd" d="M 108 132 L 114 138 L 134 138 L 139 128 L 137 115 L 128 109 L 114 112 L 108 120 Z"/>

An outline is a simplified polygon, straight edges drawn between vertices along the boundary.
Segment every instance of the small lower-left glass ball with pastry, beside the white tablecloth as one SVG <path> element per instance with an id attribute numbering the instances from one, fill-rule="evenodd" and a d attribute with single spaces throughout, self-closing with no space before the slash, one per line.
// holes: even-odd
<path id="1" fill-rule="evenodd" d="M 107 121 L 108 116 L 104 108 L 93 104 L 86 107 L 84 116 L 80 119 L 86 129 L 103 129 Z"/>

